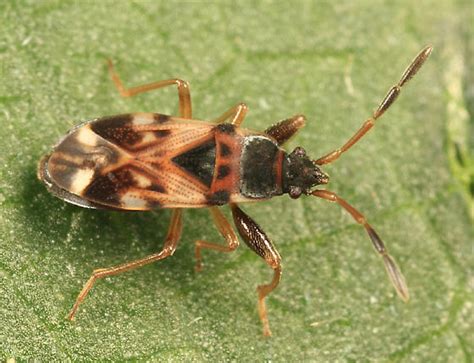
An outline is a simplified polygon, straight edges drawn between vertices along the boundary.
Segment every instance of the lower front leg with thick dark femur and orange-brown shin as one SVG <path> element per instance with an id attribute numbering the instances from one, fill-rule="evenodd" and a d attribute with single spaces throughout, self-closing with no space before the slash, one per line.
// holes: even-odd
<path id="1" fill-rule="evenodd" d="M 240 236 L 256 254 L 264 258 L 273 269 L 273 279 L 269 284 L 259 285 L 258 291 L 258 314 L 263 324 L 263 335 L 272 335 L 268 323 L 267 307 L 265 297 L 278 286 L 281 279 L 281 257 L 273 243 L 267 237 L 260 226 L 236 204 L 231 205 L 234 223 Z"/>

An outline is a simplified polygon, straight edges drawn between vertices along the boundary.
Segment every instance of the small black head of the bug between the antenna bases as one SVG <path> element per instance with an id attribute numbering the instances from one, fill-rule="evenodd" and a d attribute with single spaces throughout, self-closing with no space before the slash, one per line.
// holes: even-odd
<path id="1" fill-rule="evenodd" d="M 302 147 L 297 147 L 283 160 L 282 187 L 283 193 L 292 198 L 301 194 L 309 194 L 311 188 L 319 184 L 327 184 L 329 176 L 306 156 Z"/>

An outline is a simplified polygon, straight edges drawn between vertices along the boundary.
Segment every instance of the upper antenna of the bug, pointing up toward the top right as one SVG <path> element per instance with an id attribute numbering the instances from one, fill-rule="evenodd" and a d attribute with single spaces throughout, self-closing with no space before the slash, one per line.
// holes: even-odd
<path id="1" fill-rule="evenodd" d="M 330 153 L 316 160 L 315 163 L 318 165 L 331 163 L 338 159 L 342 153 L 349 150 L 357 141 L 359 141 L 375 125 L 375 121 L 377 121 L 377 119 L 379 119 L 395 102 L 402 87 L 418 72 L 423 63 L 431 54 L 432 49 L 433 48 L 428 46 L 418 53 L 405 72 L 403 72 L 403 75 L 398 83 L 392 86 L 392 88 L 390 88 L 390 90 L 387 92 L 385 98 L 382 100 L 372 116 L 362 124 L 362 127 L 341 148 L 331 151 Z"/>

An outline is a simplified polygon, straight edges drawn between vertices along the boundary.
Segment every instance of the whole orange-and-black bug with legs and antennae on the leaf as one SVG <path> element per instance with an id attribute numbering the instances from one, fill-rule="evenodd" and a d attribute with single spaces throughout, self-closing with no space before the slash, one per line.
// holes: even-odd
<path id="1" fill-rule="evenodd" d="M 109 61 L 112 80 L 124 97 L 177 86 L 179 117 L 133 113 L 84 122 L 69 131 L 52 152 L 41 159 L 38 178 L 52 194 L 81 207 L 120 211 L 170 208 L 171 221 L 160 252 L 94 270 L 68 318 L 73 320 L 97 280 L 171 256 L 181 235 L 184 208 L 209 208 L 217 230 L 226 241 L 226 245 L 196 241 L 197 271 L 202 269 L 202 250 L 234 251 L 239 245 L 237 234 L 219 209 L 219 206 L 229 204 L 243 241 L 274 271 L 273 279 L 257 288 L 263 334 L 271 335 L 265 298 L 280 282 L 281 257 L 265 232 L 239 204 L 283 194 L 289 194 L 291 198 L 310 195 L 326 199 L 349 212 L 367 231 L 393 287 L 400 298 L 407 301 L 405 279 L 366 218 L 337 194 L 316 187 L 329 182 L 321 165 L 337 160 L 375 125 L 431 51 L 430 46 L 420 51 L 372 116 L 342 147 L 315 160 L 302 147 L 296 147 L 291 153 L 282 148 L 304 126 L 302 115 L 280 121 L 263 132 L 255 132 L 240 127 L 248 111 L 247 106 L 240 103 L 215 120 L 198 121 L 192 118 L 187 82 L 170 79 L 127 89 Z"/>

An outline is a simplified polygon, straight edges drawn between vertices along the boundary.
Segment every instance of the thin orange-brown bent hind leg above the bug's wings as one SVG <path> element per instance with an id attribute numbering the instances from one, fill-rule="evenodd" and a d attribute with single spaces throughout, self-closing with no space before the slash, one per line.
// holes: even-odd
<path id="1" fill-rule="evenodd" d="M 176 85 L 178 87 L 179 97 L 179 115 L 184 118 L 192 117 L 191 94 L 189 91 L 189 83 L 181 79 L 173 78 L 164 81 L 152 82 L 142 86 L 125 88 L 115 67 L 110 59 L 107 60 L 110 76 L 115 83 L 118 91 L 123 97 L 132 97 L 139 93 L 152 91 L 154 89 Z"/>

